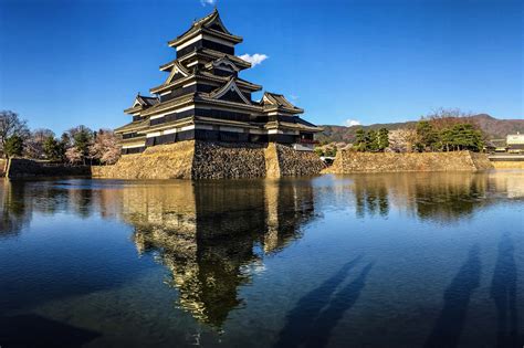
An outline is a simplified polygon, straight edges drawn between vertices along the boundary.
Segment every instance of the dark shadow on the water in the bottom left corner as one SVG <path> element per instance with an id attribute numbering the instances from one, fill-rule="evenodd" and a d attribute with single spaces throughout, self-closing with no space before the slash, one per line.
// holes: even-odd
<path id="1" fill-rule="evenodd" d="M 82 347 L 99 336 L 34 314 L 0 317 L 2 347 Z"/>

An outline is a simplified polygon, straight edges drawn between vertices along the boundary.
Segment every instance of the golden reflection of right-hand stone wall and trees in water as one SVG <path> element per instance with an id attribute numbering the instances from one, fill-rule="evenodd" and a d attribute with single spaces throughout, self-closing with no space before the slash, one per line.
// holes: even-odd
<path id="1" fill-rule="evenodd" d="M 396 207 L 421 220 L 449 223 L 472 217 L 501 194 L 524 198 L 524 183 L 501 172 L 375 173 L 352 179 L 357 218 L 387 217 Z"/>

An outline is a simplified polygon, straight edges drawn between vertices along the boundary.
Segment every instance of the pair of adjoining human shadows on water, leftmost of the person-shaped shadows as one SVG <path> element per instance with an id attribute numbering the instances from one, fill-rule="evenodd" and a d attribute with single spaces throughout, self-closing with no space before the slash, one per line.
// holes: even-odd
<path id="1" fill-rule="evenodd" d="M 366 265 L 358 277 L 338 291 L 348 272 L 361 260 L 361 255 L 346 263 L 321 286 L 303 296 L 287 315 L 287 324 L 280 333 L 274 347 L 325 346 L 332 329 L 344 313 L 357 300 L 365 280 L 373 267 Z M 335 294 L 335 295 L 334 295 Z"/>

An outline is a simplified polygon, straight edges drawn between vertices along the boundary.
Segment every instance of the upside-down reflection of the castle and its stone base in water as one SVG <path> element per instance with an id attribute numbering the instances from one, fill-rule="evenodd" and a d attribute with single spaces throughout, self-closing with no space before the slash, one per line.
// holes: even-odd
<path id="1" fill-rule="evenodd" d="M 122 207 L 138 252 L 158 253 L 172 273 L 179 305 L 216 327 L 241 304 L 238 288 L 261 256 L 284 247 L 314 219 L 307 181 L 134 187 L 123 191 Z"/>

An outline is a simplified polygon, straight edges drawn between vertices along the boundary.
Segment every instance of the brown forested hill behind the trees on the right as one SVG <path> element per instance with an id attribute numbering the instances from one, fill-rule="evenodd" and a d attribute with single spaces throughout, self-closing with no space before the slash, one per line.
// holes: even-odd
<path id="1" fill-rule="evenodd" d="M 524 119 L 497 119 L 491 117 L 486 114 L 480 114 L 474 116 L 464 117 L 464 120 L 469 120 L 479 125 L 485 134 L 488 134 L 491 139 L 502 139 L 505 138 L 509 134 L 515 134 L 517 131 L 524 134 Z M 387 128 L 389 130 L 399 129 L 399 128 L 409 128 L 415 127 L 417 124 L 416 120 L 405 122 L 405 123 L 395 123 L 395 124 L 375 124 L 369 126 L 331 126 L 325 125 L 321 126 L 324 128 L 324 131 L 318 134 L 317 140 L 323 143 L 332 141 L 345 141 L 353 143 L 355 139 L 355 133 L 357 129 L 364 128 L 368 129 L 379 129 Z"/>

